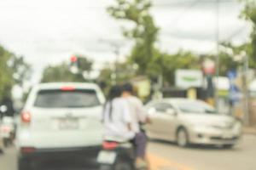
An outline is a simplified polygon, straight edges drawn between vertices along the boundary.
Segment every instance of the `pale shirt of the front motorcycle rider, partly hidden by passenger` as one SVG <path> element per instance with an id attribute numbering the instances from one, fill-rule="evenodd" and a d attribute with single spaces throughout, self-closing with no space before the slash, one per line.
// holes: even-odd
<path id="1" fill-rule="evenodd" d="M 139 122 L 146 122 L 146 112 L 143 108 L 143 102 L 135 96 L 125 98 L 131 113 L 131 129 L 134 133 L 140 132 Z"/>

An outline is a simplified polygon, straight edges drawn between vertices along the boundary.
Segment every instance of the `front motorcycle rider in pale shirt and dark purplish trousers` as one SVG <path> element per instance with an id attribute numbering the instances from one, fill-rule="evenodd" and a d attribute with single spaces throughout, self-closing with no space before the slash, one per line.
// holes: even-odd
<path id="1" fill-rule="evenodd" d="M 135 133 L 134 144 L 136 147 L 137 168 L 147 168 L 147 136 L 142 125 L 150 121 L 143 109 L 143 102 L 133 95 L 131 83 L 125 83 L 122 96 L 129 105 L 131 113 L 131 131 Z"/>

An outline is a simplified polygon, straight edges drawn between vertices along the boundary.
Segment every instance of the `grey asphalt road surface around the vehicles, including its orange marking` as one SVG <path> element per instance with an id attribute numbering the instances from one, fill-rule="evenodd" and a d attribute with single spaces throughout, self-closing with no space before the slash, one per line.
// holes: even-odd
<path id="1" fill-rule="evenodd" d="M 202 146 L 181 149 L 175 144 L 163 141 L 151 141 L 148 150 L 153 170 L 256 169 L 256 136 L 253 135 L 245 135 L 241 143 L 232 150 Z M 16 170 L 15 158 L 15 148 L 7 149 L 5 154 L 0 156 L 0 170 Z"/>

